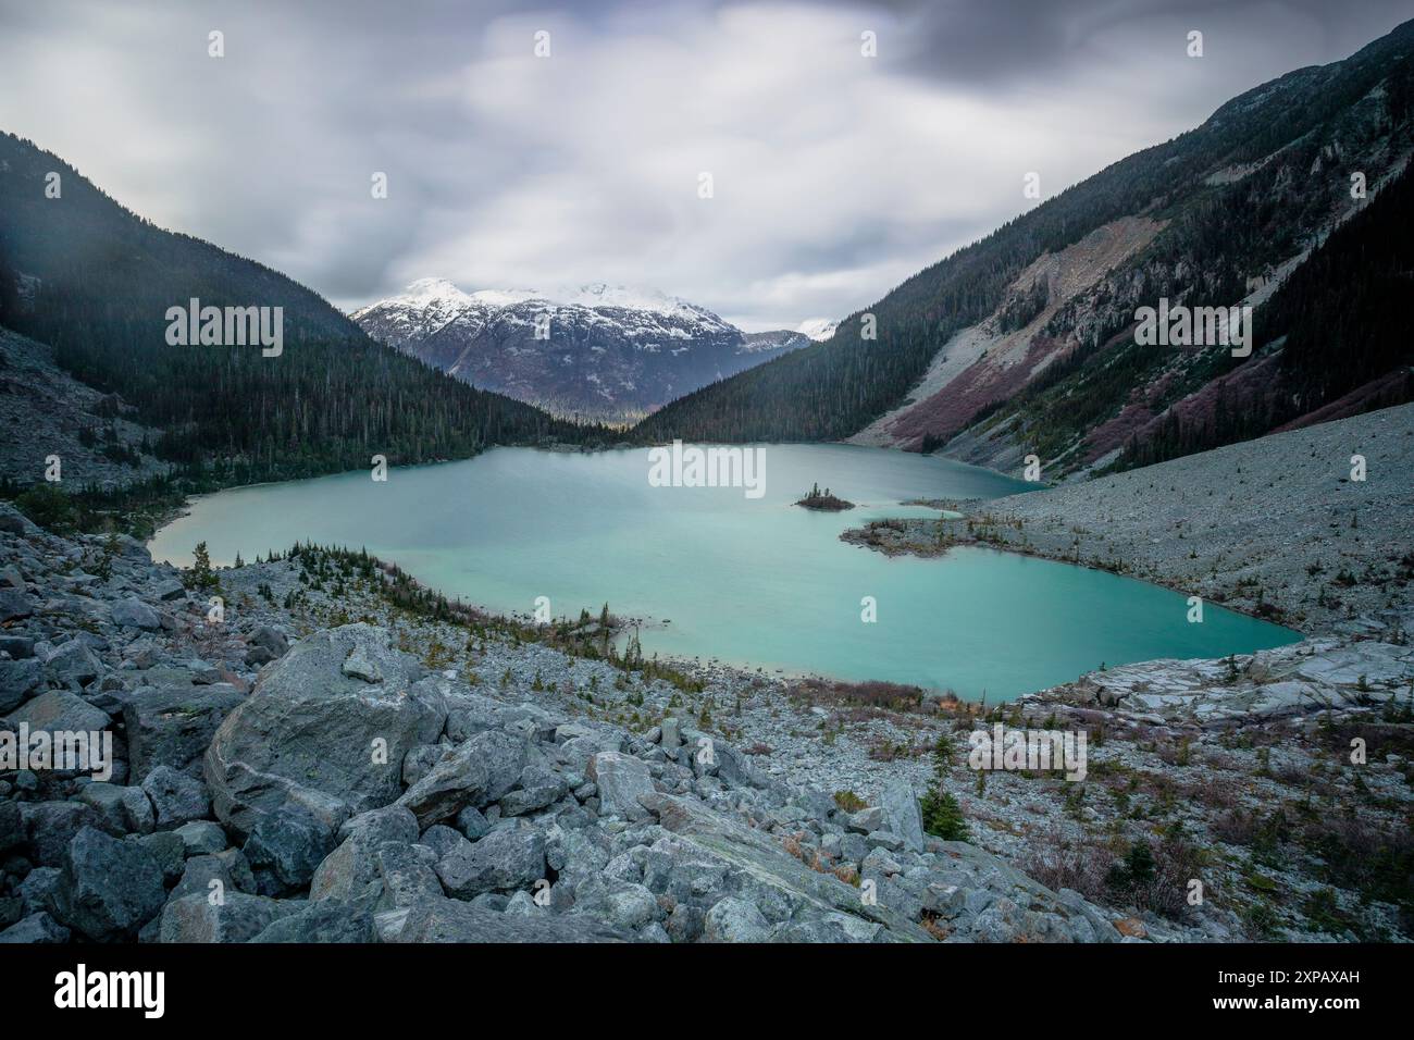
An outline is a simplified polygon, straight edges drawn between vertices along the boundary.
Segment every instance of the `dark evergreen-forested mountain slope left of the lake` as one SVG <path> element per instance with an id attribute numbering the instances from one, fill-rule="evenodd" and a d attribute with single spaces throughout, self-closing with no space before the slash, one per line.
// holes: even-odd
<path id="1" fill-rule="evenodd" d="M 47 175 L 59 174 L 59 197 Z M 167 310 L 283 307 L 283 352 L 167 342 Z M 49 344 L 82 382 L 163 432 L 168 461 L 225 481 L 469 456 L 486 444 L 594 436 L 484 393 L 369 340 L 260 263 L 124 209 L 31 141 L 0 134 L 0 324 Z M 42 458 L 42 430 L 34 437 Z"/>

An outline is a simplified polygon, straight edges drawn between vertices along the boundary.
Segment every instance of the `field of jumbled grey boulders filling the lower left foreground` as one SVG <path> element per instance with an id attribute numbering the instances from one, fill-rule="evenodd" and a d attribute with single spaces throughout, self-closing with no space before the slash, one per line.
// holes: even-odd
<path id="1" fill-rule="evenodd" d="M 0 941 L 1121 938 L 906 784 L 764 775 L 663 679 L 386 604 L 325 627 L 383 579 L 314 553 L 219 572 L 219 623 L 182 579 L 0 507 L 3 729 L 116 734 L 106 780 L 0 771 Z"/>

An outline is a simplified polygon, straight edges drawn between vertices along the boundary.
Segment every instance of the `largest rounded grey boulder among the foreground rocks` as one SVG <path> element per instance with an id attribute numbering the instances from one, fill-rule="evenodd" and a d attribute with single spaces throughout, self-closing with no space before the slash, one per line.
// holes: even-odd
<path id="1" fill-rule="evenodd" d="M 403 757 L 441 733 L 440 679 L 368 624 L 296 644 L 216 730 L 205 757 L 216 816 L 247 835 L 287 804 L 337 829 L 402 794 Z"/>

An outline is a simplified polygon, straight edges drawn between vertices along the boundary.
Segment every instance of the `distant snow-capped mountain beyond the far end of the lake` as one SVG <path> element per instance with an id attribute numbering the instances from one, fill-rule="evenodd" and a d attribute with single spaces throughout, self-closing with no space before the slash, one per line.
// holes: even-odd
<path id="1" fill-rule="evenodd" d="M 810 342 L 790 330 L 742 333 L 674 296 L 602 282 L 467 293 L 420 279 L 352 318 L 475 386 L 604 422 L 636 419 Z"/>

